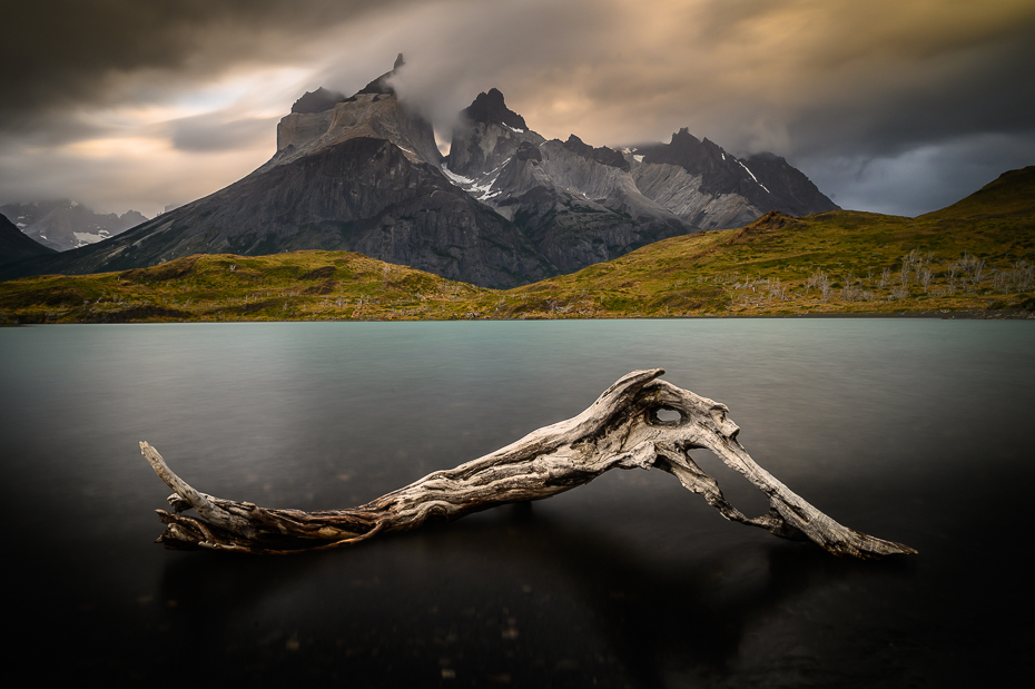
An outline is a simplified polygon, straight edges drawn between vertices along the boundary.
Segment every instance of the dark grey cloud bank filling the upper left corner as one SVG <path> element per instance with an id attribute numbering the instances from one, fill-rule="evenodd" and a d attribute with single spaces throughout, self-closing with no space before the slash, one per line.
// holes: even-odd
<path id="1" fill-rule="evenodd" d="M 0 127 L 39 111 L 126 98 L 126 80 L 213 75 L 245 60 L 272 61 L 306 37 L 393 0 L 36 0 L 8 3 L 0 42 Z"/>

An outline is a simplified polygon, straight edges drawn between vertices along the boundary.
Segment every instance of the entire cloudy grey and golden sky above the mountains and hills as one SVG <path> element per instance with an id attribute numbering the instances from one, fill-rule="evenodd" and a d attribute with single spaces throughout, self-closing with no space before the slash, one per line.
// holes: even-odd
<path id="1" fill-rule="evenodd" d="M 36 0 L 4 8 L 0 204 L 148 217 L 244 177 L 305 91 L 394 86 L 448 140 L 499 88 L 548 138 L 783 156 L 914 216 L 1035 165 L 1032 0 Z"/>

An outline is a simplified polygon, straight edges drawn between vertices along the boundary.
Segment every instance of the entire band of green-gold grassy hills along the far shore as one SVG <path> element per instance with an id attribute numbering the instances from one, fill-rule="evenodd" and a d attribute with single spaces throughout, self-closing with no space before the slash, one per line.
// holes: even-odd
<path id="1" fill-rule="evenodd" d="M 1035 311 L 1035 167 L 916 218 L 768 214 L 509 291 L 344 252 L 200 255 L 0 283 L 19 323 L 671 317 Z"/>

